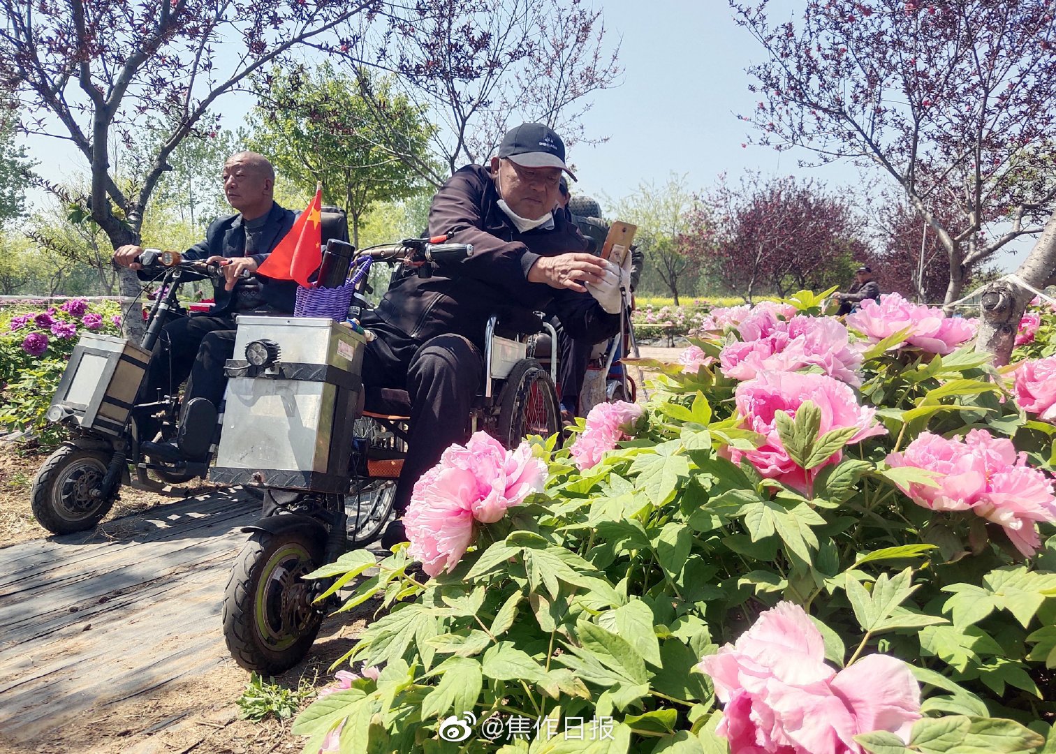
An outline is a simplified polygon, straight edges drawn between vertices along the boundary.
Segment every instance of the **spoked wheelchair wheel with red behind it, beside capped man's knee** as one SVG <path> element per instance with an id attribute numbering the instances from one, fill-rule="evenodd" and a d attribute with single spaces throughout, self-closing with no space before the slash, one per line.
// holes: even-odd
<path id="1" fill-rule="evenodd" d="M 498 394 L 495 438 L 515 448 L 527 435 L 549 437 L 560 431 L 558 392 L 550 373 L 535 359 L 518 361 Z"/>

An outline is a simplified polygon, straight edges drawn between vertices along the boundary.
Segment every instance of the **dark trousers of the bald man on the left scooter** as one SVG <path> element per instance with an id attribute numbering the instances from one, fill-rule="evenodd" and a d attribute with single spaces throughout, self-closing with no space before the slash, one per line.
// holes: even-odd
<path id="1" fill-rule="evenodd" d="M 172 395 L 189 379 L 184 406 L 207 398 L 219 407 L 227 387 L 224 362 L 234 353 L 234 317 L 191 315 L 167 323 L 147 364 L 140 400 L 154 400 L 158 391 Z M 149 428 L 152 436 L 157 428 Z"/>

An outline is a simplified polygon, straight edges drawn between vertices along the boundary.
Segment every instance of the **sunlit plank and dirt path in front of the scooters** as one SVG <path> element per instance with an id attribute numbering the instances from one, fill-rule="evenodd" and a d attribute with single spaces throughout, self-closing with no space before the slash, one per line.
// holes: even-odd
<path id="1" fill-rule="evenodd" d="M 221 634 L 240 527 L 259 508 L 212 491 L 0 549 L 0 751 L 299 750 L 288 722 L 238 719 L 248 674 Z M 309 659 L 279 680 L 324 684 L 360 625 L 327 619 Z"/>

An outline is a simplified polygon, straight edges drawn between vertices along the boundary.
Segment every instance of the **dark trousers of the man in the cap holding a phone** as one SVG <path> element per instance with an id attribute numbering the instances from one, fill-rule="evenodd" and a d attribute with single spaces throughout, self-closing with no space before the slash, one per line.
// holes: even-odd
<path id="1" fill-rule="evenodd" d="M 378 336 L 363 353 L 363 384 L 403 389 L 411 398 L 408 456 L 394 502 L 402 515 L 414 483 L 449 446 L 468 439 L 484 358 L 460 335 L 440 335 L 420 343 L 380 320 L 364 317 L 363 323 Z"/>

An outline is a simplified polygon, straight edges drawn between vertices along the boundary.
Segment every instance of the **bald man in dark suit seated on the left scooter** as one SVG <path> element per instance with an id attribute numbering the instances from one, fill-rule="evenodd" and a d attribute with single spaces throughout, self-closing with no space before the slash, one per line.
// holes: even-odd
<path id="1" fill-rule="evenodd" d="M 162 331 L 154 353 L 150 356 L 139 397 L 150 400 L 157 391 L 173 394 L 185 379 L 181 425 L 194 398 L 208 400 L 213 408 L 224 397 L 227 378 L 224 363 L 234 352 L 234 315 L 289 314 L 294 310 L 296 283 L 256 276 L 263 262 L 294 225 L 296 213 L 283 209 L 272 200 L 275 169 L 271 163 L 256 152 L 232 154 L 224 164 L 224 195 L 237 214 L 220 218 L 209 225 L 205 240 L 183 253 L 185 260 L 219 262 L 230 260 L 223 267 L 223 284 L 213 285 L 215 303 L 212 310 L 173 319 Z M 136 245 L 121 246 L 114 251 L 114 262 L 121 267 L 142 269 L 135 261 L 143 251 Z M 249 272 L 243 278 L 243 271 Z M 140 437 L 153 440 L 158 427 L 151 427 L 147 417 L 138 417 Z M 208 444 L 199 444 L 191 453 L 181 450 L 177 442 L 143 442 L 144 452 L 159 460 L 203 460 Z"/>

